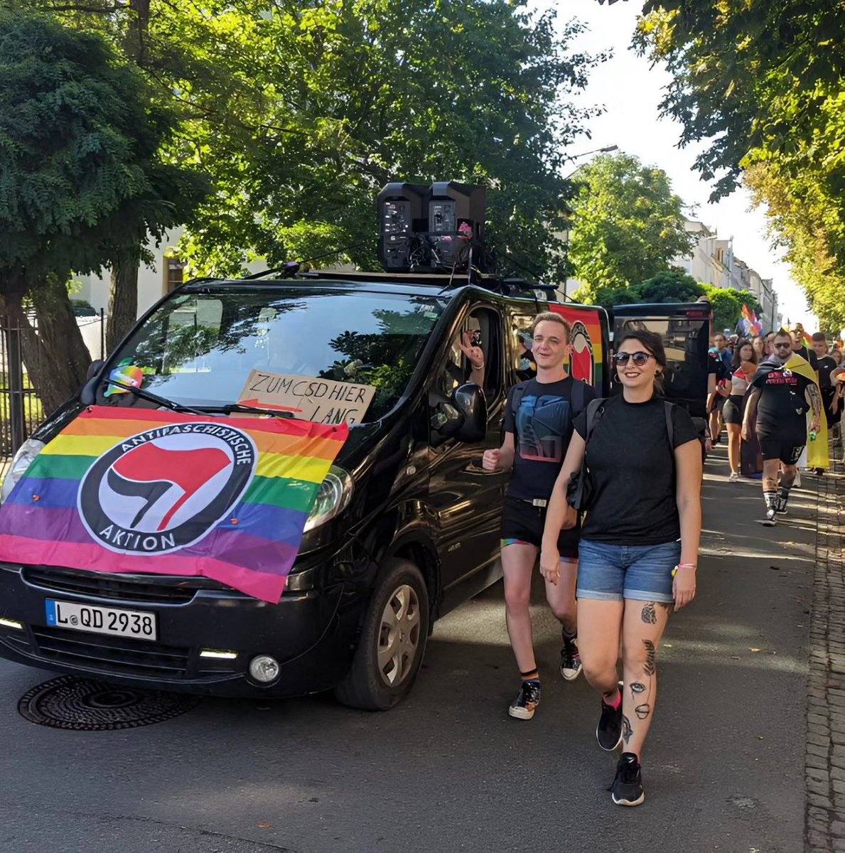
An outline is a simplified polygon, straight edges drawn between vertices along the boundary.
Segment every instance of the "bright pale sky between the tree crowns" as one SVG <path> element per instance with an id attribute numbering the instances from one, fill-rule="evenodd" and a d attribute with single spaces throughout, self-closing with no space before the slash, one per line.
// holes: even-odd
<path id="1" fill-rule="evenodd" d="M 536 5 L 547 8 L 547 3 Z M 696 208 L 695 212 L 687 211 L 687 216 L 702 221 L 722 239 L 732 236 L 735 255 L 762 278 L 773 279 L 784 322 L 802 322 L 805 328 L 815 331 L 817 321 L 807 309 L 802 289 L 790 277 L 789 264 L 780 259 L 782 250 L 773 249 L 767 238 L 765 212 L 751 208 L 750 196 L 744 189 L 710 204 L 709 184 L 699 180 L 693 168 L 701 148 L 678 148 L 680 125 L 659 117 L 658 104 L 670 75 L 663 67 L 651 68 L 645 57 L 640 58 L 629 49 L 641 0 L 622 0 L 612 6 L 599 5 L 597 0 L 559 0 L 556 7 L 559 22 L 577 18 L 589 27 L 589 32 L 572 44 L 573 49 L 590 53 L 612 49 L 614 53 L 610 60 L 593 69 L 587 90 L 577 97 L 584 106 L 605 107 L 605 113 L 590 119 L 592 138 L 581 137 L 571 147 L 572 154 L 618 145 L 620 151 L 666 171 L 674 192 Z M 587 160 L 576 160 L 573 168 Z"/>

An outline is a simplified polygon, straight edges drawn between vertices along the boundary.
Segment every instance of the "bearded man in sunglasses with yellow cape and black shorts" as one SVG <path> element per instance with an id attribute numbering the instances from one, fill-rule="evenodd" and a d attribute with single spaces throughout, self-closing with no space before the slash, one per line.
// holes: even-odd
<path id="1" fill-rule="evenodd" d="M 807 444 L 807 410 L 812 409 L 810 429 L 821 425 L 819 386 L 786 363 L 792 357 L 792 338 L 781 330 L 773 342 L 774 355 L 758 365 L 745 405 L 743 438 L 750 439 L 750 424 L 757 417 L 757 438 L 763 454 L 763 499 L 766 515 L 761 523 L 775 524 L 775 514 L 785 513 L 796 464 Z M 806 366 L 806 362 L 802 363 Z M 778 469 L 780 480 L 778 483 Z"/>

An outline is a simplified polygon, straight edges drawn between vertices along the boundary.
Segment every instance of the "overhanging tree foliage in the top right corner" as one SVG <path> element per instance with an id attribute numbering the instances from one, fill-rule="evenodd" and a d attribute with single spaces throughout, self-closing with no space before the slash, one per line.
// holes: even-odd
<path id="1" fill-rule="evenodd" d="M 825 326 L 845 325 L 845 5 L 646 0 L 636 40 L 673 83 L 664 113 L 713 197 L 746 177 Z M 745 174 L 744 174 L 745 173 Z"/>

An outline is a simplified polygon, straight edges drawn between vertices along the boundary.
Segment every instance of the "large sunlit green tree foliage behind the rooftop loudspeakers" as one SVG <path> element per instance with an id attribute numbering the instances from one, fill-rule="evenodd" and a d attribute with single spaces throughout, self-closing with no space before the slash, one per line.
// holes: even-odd
<path id="1" fill-rule="evenodd" d="M 449 178 L 489 187 L 502 261 L 562 271 L 564 148 L 590 113 L 566 96 L 597 61 L 570 54 L 579 26 L 524 0 L 149 0 L 143 26 L 138 3 L 49 2 L 77 26 L 98 10 L 124 51 L 134 26 L 182 110 L 169 154 L 215 189 L 180 247 L 194 272 L 342 247 L 372 266 L 381 186 Z"/>

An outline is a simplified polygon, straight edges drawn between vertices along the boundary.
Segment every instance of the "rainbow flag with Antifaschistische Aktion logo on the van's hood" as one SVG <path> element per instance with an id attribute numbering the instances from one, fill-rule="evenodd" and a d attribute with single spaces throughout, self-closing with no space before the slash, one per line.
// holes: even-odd
<path id="1" fill-rule="evenodd" d="M 0 560 L 202 575 L 277 602 L 346 424 L 92 406 L 0 507 Z"/>

